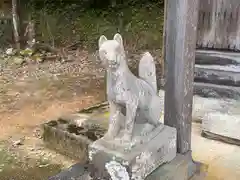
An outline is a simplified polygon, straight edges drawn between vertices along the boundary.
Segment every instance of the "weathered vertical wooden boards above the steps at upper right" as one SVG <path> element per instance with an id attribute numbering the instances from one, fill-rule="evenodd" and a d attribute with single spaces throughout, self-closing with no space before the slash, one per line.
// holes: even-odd
<path id="1" fill-rule="evenodd" d="M 197 46 L 240 51 L 240 1 L 201 0 Z"/>

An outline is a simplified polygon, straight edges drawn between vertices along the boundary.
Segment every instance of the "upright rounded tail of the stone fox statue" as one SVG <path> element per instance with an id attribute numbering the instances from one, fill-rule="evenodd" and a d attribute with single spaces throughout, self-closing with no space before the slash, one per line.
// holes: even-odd
<path id="1" fill-rule="evenodd" d="M 154 59 L 149 52 L 144 53 L 138 66 L 138 75 L 152 86 L 154 92 L 157 93 L 157 77 Z"/>

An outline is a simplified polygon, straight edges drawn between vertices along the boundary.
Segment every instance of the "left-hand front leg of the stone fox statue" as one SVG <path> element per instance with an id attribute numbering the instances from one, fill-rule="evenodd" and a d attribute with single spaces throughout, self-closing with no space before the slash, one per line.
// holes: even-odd
<path id="1" fill-rule="evenodd" d="M 120 129 L 121 129 L 121 107 L 110 101 L 109 102 L 109 108 L 110 108 L 110 117 L 109 117 L 109 127 L 108 131 L 105 134 L 105 138 L 115 138 Z"/>

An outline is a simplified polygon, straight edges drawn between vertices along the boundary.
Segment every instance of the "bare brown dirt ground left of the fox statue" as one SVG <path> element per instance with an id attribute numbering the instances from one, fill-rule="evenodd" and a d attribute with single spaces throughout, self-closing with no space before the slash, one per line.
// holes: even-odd
<path id="1" fill-rule="evenodd" d="M 44 147 L 39 125 L 105 99 L 104 72 L 87 52 L 79 57 L 66 63 L 1 64 L 1 180 L 46 179 L 73 163 Z"/>

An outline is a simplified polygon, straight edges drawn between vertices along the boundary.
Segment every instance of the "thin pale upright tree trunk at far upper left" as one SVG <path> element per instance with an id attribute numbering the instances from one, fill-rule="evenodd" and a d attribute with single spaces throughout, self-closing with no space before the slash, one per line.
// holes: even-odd
<path id="1" fill-rule="evenodd" d="M 12 0 L 12 19 L 13 19 L 13 34 L 15 46 L 20 50 L 20 27 L 19 27 L 19 14 L 18 14 L 18 0 Z"/>

